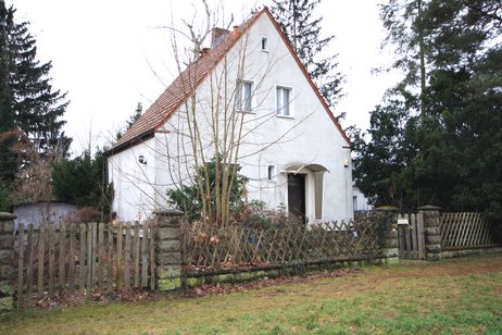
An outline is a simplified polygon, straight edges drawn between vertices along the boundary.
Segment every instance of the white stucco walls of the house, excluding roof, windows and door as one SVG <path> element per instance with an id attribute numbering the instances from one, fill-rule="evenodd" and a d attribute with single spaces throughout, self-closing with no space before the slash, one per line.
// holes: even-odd
<path id="1" fill-rule="evenodd" d="M 262 37 L 268 38 L 266 52 L 261 50 Z M 239 149 L 241 173 L 249 178 L 249 199 L 263 200 L 271 208 L 287 204 L 285 169 L 317 164 L 328 170 L 323 178 L 321 220 L 352 218 L 352 166 L 348 144 L 267 15 L 261 15 L 247 37 L 230 50 L 226 60 L 212 73 L 213 83 L 222 78 L 225 67 L 228 86 L 235 87 L 242 54 L 246 54 L 242 77 L 252 82 L 255 90 L 253 110 L 244 114 L 243 134 L 247 135 Z M 212 157 L 208 121 L 213 98 L 210 82 L 208 78 L 197 91 L 198 117 L 203 142 L 206 144 L 206 159 Z M 291 88 L 292 115 L 289 117 L 276 114 L 277 86 Z M 165 204 L 165 189 L 186 181 L 190 173 L 186 163 L 190 163 L 191 149 L 185 115 L 181 108 L 154 138 L 111 158 L 113 164 L 109 164 L 110 175 L 116 189 L 113 208 L 121 219 L 137 220 L 137 213 L 148 215 L 152 208 Z M 139 154 L 148 159 L 146 165 L 137 163 Z M 269 165 L 275 166 L 272 181 L 267 178 Z M 314 172 L 308 166 L 298 169 L 298 173 L 306 175 L 306 216 L 309 222 L 314 222 Z"/>

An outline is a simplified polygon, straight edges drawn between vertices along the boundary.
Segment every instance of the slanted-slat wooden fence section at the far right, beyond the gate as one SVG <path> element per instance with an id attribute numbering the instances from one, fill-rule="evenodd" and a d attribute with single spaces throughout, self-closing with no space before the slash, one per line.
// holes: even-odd
<path id="1" fill-rule="evenodd" d="M 494 246 L 494 224 L 486 213 L 441 213 L 441 246 L 443 250 Z"/>

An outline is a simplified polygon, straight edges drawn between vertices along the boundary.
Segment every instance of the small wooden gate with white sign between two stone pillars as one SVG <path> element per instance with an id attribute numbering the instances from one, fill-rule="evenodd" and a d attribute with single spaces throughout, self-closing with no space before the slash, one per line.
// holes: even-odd
<path id="1" fill-rule="evenodd" d="M 398 216 L 399 258 L 426 259 L 424 214 Z"/>

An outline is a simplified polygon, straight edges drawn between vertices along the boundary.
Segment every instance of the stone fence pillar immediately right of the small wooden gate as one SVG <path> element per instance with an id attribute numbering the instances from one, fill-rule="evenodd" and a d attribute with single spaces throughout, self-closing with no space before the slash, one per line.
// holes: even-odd
<path id="1" fill-rule="evenodd" d="M 418 211 L 424 214 L 425 252 L 429 261 L 436 261 L 441 258 L 440 209 L 435 206 L 418 208 Z"/>

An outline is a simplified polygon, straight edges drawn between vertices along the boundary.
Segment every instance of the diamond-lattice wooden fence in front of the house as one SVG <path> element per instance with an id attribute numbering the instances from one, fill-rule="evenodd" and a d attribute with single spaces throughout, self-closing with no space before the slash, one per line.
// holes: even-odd
<path id="1" fill-rule="evenodd" d="M 188 271 L 200 271 L 366 259 L 381 253 L 378 224 L 374 218 L 268 229 L 184 224 L 183 262 Z"/>

